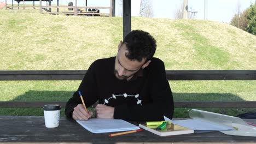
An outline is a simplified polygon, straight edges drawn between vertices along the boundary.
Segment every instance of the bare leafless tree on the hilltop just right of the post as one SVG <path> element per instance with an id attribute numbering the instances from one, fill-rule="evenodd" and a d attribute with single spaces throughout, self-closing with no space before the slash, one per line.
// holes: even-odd
<path id="1" fill-rule="evenodd" d="M 143 17 L 153 17 L 154 11 L 150 0 L 141 0 L 139 14 Z"/>

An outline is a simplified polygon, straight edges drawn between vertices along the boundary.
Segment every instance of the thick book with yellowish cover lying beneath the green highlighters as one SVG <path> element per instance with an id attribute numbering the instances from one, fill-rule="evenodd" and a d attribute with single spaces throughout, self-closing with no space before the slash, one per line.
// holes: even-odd
<path id="1" fill-rule="evenodd" d="M 168 136 L 168 135 L 183 135 L 183 134 L 191 134 L 194 133 L 193 129 L 188 129 L 188 128 L 184 128 L 181 127 L 177 124 L 173 124 L 173 123 L 167 123 L 166 128 L 163 130 L 156 130 L 156 127 L 158 127 L 159 125 L 146 125 L 143 123 L 139 123 L 139 127 L 141 127 L 142 129 L 148 130 L 151 133 L 154 133 L 156 135 L 160 135 L 160 136 Z"/>

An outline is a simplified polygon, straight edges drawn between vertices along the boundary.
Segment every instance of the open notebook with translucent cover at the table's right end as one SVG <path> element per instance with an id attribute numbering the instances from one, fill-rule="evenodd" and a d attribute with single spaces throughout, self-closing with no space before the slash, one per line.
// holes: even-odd
<path id="1" fill-rule="evenodd" d="M 193 129 L 195 133 L 217 130 L 227 135 L 256 136 L 256 128 L 238 117 L 196 109 L 189 111 L 189 117 L 191 119 L 176 121 L 171 121 L 165 117 L 165 121 Z"/>

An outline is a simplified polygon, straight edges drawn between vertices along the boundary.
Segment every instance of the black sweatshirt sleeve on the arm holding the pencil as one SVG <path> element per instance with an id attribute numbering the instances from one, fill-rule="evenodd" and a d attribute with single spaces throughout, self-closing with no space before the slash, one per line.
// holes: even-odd
<path id="1" fill-rule="evenodd" d="M 82 93 L 86 107 L 91 106 L 97 101 L 98 96 L 96 93 L 95 65 L 95 62 L 90 65 L 82 82 L 80 83 L 79 88 L 74 92 L 73 97 L 68 100 L 65 109 L 65 115 L 68 118 L 72 118 L 74 107 L 78 104 L 82 104 L 78 91 Z"/>

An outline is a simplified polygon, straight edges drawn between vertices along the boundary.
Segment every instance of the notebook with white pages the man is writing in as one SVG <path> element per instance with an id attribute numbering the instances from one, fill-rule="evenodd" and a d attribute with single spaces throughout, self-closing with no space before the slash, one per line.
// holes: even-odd
<path id="1" fill-rule="evenodd" d="M 139 129 L 138 126 L 122 119 L 90 118 L 88 121 L 77 120 L 77 122 L 91 133 L 109 133 Z"/>

